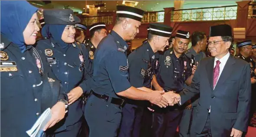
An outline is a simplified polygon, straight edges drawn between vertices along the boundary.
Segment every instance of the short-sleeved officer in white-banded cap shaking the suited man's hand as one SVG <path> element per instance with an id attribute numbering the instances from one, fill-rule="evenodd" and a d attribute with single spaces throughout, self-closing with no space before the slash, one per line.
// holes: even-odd
<path id="1" fill-rule="evenodd" d="M 108 36 L 99 43 L 93 61 L 92 94 L 85 104 L 89 137 L 116 137 L 121 123 L 124 99 L 148 100 L 161 107 L 167 105 L 162 91 L 146 92 L 132 87 L 128 81 L 126 40 L 134 39 L 144 11 L 117 6 L 117 21 Z"/>

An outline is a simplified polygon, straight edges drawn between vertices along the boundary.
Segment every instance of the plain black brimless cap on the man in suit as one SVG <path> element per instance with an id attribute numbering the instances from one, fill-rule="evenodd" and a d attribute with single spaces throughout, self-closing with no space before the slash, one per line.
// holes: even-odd
<path id="1" fill-rule="evenodd" d="M 232 28 L 227 24 L 210 26 L 210 37 L 213 36 L 231 36 Z"/>

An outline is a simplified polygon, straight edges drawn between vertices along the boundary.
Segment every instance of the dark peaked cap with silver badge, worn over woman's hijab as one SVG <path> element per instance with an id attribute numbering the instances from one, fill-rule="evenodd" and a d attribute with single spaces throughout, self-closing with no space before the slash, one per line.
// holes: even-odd
<path id="1" fill-rule="evenodd" d="M 78 16 L 74 16 L 73 10 L 43 10 L 44 22 L 46 24 L 75 25 L 80 23 Z"/>

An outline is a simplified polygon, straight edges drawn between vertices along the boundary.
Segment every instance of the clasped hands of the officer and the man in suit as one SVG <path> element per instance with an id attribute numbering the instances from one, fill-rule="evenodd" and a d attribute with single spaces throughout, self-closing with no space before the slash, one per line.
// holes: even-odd
<path id="1" fill-rule="evenodd" d="M 159 96 L 160 92 L 160 96 Z M 153 94 L 156 94 L 154 98 L 151 98 L 149 101 L 152 104 L 158 105 L 160 108 L 166 108 L 167 106 L 174 106 L 174 104 L 179 103 L 181 101 L 181 96 L 179 94 L 174 93 L 174 91 L 153 91 Z M 158 94 L 158 95 L 157 95 Z M 150 111 L 154 111 L 151 108 L 148 108 Z"/>

